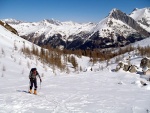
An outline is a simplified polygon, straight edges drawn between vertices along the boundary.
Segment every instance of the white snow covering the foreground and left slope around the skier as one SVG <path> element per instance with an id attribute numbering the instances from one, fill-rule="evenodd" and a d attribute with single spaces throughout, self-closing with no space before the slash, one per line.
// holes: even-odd
<path id="1" fill-rule="evenodd" d="M 54 74 L 51 68 L 43 68 L 40 61 L 20 52 L 22 41 L 25 40 L 0 26 L 0 113 L 150 112 L 150 83 L 140 72 L 113 72 L 116 64 L 99 70 L 105 63 L 91 65 L 88 58 L 82 57 L 78 62 L 93 71 L 66 74 L 56 70 Z M 18 50 L 14 50 L 14 42 Z M 25 43 L 32 47 L 30 42 Z M 131 57 L 131 63 L 139 64 L 141 59 Z M 27 93 L 28 62 L 42 76 L 38 95 Z M 142 86 L 141 80 L 148 85 Z"/>

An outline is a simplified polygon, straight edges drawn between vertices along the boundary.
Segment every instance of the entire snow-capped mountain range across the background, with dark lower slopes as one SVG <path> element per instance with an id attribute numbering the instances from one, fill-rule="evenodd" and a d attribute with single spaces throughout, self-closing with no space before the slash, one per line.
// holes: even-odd
<path id="1" fill-rule="evenodd" d="M 138 15 L 141 13 L 143 16 L 139 18 Z M 13 19 L 3 21 L 13 26 L 21 37 L 37 45 L 67 49 L 94 49 L 124 46 L 149 37 L 149 27 L 145 27 L 149 25 L 149 14 L 149 8 L 134 10 L 131 15 L 113 9 L 98 24 L 60 22 L 53 19 L 31 23 Z"/>

